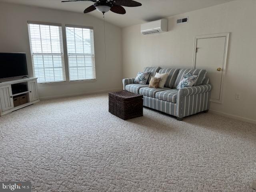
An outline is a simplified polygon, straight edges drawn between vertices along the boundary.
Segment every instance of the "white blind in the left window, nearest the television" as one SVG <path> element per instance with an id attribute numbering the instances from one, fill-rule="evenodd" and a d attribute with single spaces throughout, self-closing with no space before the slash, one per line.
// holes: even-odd
<path id="1" fill-rule="evenodd" d="M 61 26 L 28 24 L 34 75 L 38 83 L 65 81 Z"/>

